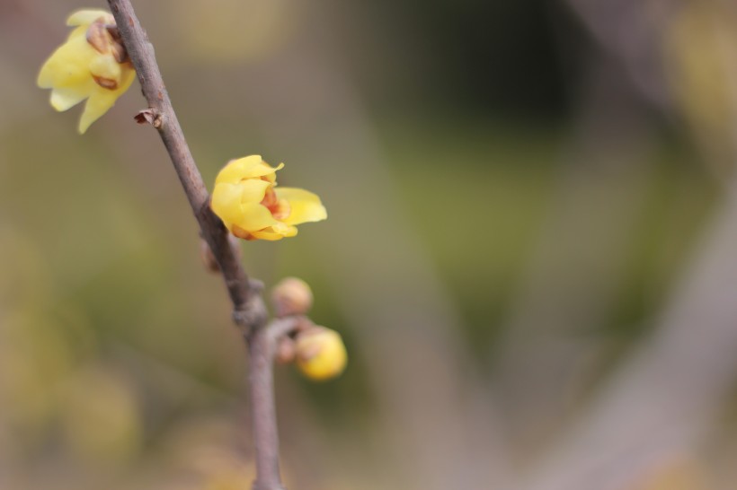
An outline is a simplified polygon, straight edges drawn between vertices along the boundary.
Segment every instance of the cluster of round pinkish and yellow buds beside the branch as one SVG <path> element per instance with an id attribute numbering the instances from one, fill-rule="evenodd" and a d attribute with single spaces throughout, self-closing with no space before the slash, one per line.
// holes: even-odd
<path id="1" fill-rule="evenodd" d="M 288 277 L 272 289 L 271 302 L 277 317 L 299 316 L 310 310 L 313 295 L 305 281 Z M 291 335 L 279 339 L 276 360 L 297 364 L 297 369 L 310 380 L 326 381 L 345 370 L 348 353 L 338 332 L 305 318 L 297 322 Z"/>

